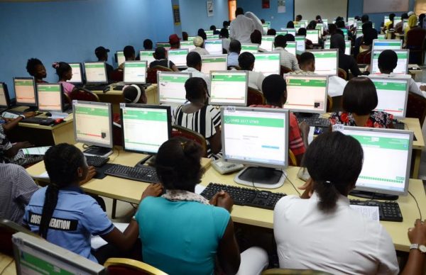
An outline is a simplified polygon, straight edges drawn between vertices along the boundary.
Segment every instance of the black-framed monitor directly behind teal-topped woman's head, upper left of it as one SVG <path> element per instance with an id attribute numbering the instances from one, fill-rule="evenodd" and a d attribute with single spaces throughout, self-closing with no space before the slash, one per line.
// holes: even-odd
<path id="1" fill-rule="evenodd" d="M 121 103 L 120 113 L 124 150 L 156 154 L 171 138 L 170 106 Z"/>

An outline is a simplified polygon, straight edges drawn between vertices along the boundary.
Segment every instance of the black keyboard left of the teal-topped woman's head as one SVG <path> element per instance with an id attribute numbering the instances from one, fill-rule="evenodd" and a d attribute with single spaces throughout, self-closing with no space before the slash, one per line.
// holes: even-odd
<path id="1" fill-rule="evenodd" d="M 109 176 L 117 176 L 124 179 L 132 179 L 133 181 L 145 181 L 159 183 L 157 172 L 154 167 L 129 167 L 120 164 L 113 164 L 104 172 Z"/>

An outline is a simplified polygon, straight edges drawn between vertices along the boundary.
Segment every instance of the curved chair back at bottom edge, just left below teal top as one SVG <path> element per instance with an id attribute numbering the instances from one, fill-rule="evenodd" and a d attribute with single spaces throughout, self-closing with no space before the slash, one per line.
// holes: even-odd
<path id="1" fill-rule="evenodd" d="M 168 275 L 149 264 L 126 258 L 109 258 L 104 266 L 109 275 Z"/>

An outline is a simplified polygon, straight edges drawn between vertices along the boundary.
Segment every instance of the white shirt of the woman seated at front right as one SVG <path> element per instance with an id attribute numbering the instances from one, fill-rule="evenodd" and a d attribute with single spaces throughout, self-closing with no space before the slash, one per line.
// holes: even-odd
<path id="1" fill-rule="evenodd" d="M 314 269 L 331 274 L 398 274 L 391 236 L 339 196 L 331 213 L 310 199 L 285 196 L 273 211 L 273 231 L 280 268 Z"/>

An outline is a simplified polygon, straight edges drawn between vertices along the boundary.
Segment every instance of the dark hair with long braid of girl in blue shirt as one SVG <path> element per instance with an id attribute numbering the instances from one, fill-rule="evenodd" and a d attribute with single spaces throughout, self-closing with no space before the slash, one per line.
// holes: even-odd
<path id="1" fill-rule="evenodd" d="M 67 143 L 50 147 L 43 159 L 50 184 L 45 193 L 38 234 L 46 239 L 50 219 L 58 203 L 59 189 L 75 183 L 78 180 L 77 168 L 86 164 L 83 153 L 74 145 Z"/>

